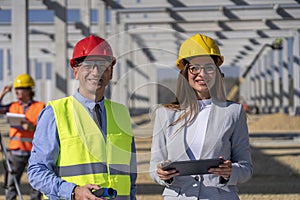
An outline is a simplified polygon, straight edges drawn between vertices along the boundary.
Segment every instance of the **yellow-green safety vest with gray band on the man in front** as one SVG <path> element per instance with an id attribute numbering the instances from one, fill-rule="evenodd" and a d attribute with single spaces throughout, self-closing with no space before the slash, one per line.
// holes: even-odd
<path id="1" fill-rule="evenodd" d="M 59 140 L 56 174 L 76 185 L 97 184 L 117 190 L 119 197 L 130 196 L 132 128 L 128 109 L 104 101 L 107 139 L 74 97 L 50 101 Z"/>

